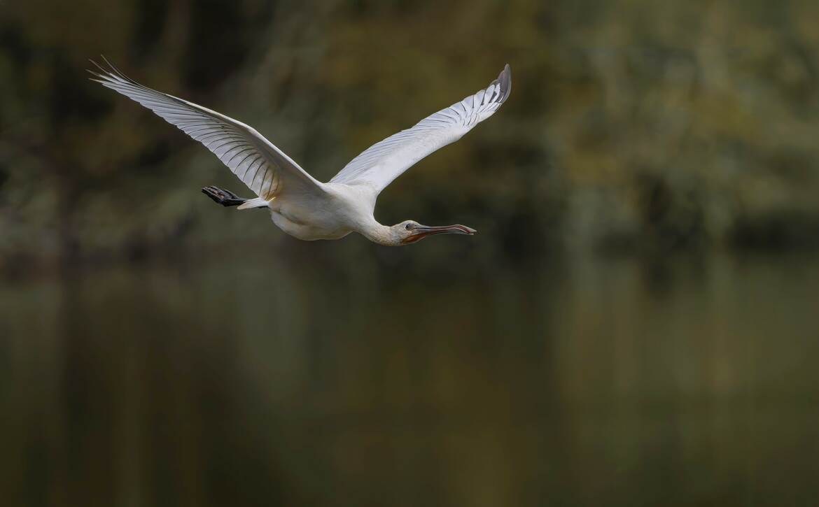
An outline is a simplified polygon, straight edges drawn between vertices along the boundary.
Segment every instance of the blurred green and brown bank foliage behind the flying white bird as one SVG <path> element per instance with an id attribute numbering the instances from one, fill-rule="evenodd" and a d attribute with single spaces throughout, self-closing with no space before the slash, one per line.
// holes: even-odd
<path id="1" fill-rule="evenodd" d="M 477 227 L 486 258 L 819 239 L 817 2 L 31 0 L 0 5 L 0 266 L 302 248 L 201 196 L 247 191 L 85 79 L 99 53 L 254 125 L 324 181 L 509 62 L 499 114 L 377 209 Z"/>

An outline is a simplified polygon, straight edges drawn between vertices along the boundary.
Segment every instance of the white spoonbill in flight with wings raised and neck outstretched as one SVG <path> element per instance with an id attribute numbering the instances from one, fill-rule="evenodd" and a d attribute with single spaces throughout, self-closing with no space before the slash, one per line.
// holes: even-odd
<path id="1" fill-rule="evenodd" d="M 105 57 L 103 56 L 103 60 Z M 462 225 L 429 227 L 414 220 L 385 226 L 373 216 L 378 194 L 420 159 L 458 141 L 489 118 L 509 97 L 509 65 L 489 86 L 429 115 L 352 159 L 329 182 L 310 176 L 256 129 L 179 97 L 143 86 L 105 60 L 108 69 L 89 70 L 97 83 L 120 92 L 201 142 L 256 194 L 244 199 L 215 186 L 210 199 L 238 209 L 268 208 L 273 222 L 301 240 L 337 240 L 358 232 L 378 245 L 401 246 L 439 234 L 473 235 Z"/>

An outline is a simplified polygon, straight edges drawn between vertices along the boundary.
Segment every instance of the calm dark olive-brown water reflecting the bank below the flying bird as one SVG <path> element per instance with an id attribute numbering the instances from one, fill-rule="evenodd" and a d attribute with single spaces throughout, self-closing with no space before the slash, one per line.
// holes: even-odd
<path id="1" fill-rule="evenodd" d="M 815 505 L 819 262 L 0 286 L 3 505 Z"/>

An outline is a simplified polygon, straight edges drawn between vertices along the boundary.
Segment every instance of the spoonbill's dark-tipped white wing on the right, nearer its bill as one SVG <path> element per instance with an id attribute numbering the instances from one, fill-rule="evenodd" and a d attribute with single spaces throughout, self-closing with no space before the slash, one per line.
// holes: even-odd
<path id="1" fill-rule="evenodd" d="M 420 159 L 458 141 L 477 123 L 489 118 L 506 101 L 511 89 L 512 70 L 506 65 L 498 79 L 486 89 L 370 146 L 346 164 L 330 182 L 368 184 L 376 192 L 381 192 Z"/>

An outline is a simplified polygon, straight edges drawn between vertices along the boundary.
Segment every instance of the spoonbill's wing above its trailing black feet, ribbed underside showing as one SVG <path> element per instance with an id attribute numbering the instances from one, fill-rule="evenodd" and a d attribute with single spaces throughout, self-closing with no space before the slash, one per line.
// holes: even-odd
<path id="1" fill-rule="evenodd" d="M 93 81 L 139 102 L 201 142 L 260 198 L 271 200 L 285 189 L 299 193 L 324 191 L 321 183 L 256 129 L 201 105 L 145 87 L 110 62 L 106 63 L 111 69 L 97 65 L 102 74 L 89 71 L 99 78 Z"/>

